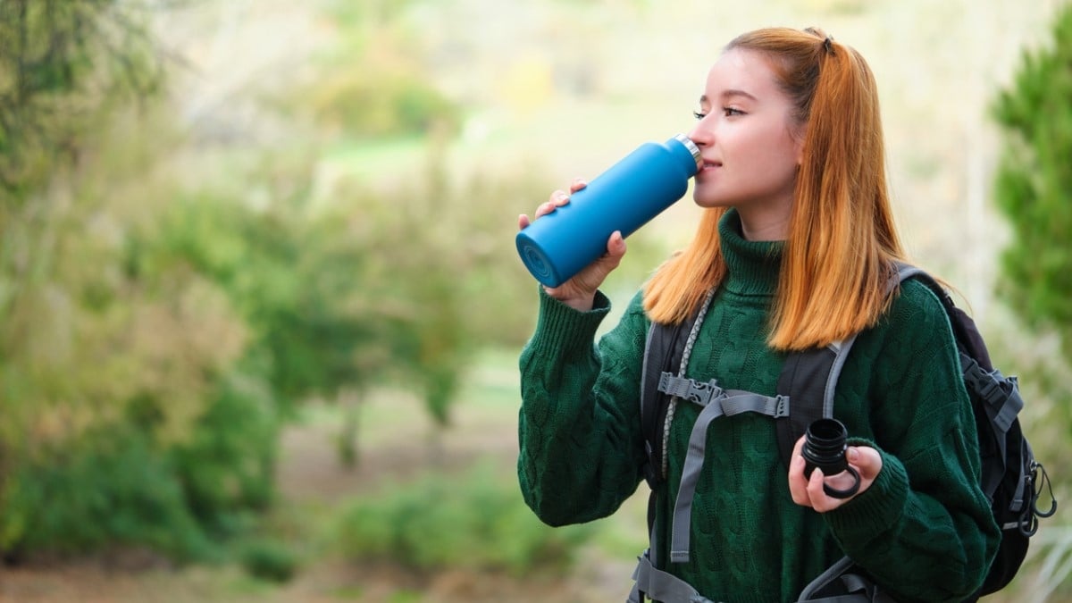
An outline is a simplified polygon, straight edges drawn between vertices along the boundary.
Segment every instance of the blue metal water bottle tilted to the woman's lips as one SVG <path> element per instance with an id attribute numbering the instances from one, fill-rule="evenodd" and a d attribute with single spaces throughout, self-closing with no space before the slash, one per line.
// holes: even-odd
<path id="1" fill-rule="evenodd" d="M 700 149 L 684 134 L 644 143 L 518 232 L 521 261 L 536 280 L 559 286 L 606 253 L 614 231 L 627 237 L 684 196 L 701 164 Z"/>

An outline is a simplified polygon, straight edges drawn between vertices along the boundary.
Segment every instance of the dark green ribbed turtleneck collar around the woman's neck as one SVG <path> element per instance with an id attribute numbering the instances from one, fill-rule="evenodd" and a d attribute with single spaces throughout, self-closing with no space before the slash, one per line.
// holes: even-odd
<path id="1" fill-rule="evenodd" d="M 728 268 L 721 286 L 740 295 L 774 295 L 785 241 L 745 240 L 741 217 L 730 208 L 718 222 L 723 258 Z"/>

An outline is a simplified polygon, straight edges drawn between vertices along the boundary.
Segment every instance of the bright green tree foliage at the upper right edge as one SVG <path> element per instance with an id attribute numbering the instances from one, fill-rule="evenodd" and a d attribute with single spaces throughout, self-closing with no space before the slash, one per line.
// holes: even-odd
<path id="1" fill-rule="evenodd" d="M 995 194 L 1013 231 L 999 293 L 1029 325 L 1056 330 L 1072 357 L 1072 5 L 1052 44 L 1024 55 L 994 115 L 1006 139 Z"/>

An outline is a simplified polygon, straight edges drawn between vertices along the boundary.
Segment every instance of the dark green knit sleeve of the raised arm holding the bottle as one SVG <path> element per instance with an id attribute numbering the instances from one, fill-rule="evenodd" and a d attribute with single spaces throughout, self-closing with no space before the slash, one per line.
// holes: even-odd
<path id="1" fill-rule="evenodd" d="M 541 288 L 536 332 L 521 352 L 518 475 L 525 502 L 552 526 L 610 515 L 641 479 L 647 322 L 638 294 L 594 344 L 609 308 L 598 294 L 579 312 Z"/>

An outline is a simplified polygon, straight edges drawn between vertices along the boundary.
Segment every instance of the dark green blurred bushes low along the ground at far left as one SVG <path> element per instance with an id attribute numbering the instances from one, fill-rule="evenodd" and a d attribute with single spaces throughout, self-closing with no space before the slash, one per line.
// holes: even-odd
<path id="1" fill-rule="evenodd" d="M 17 559 L 146 546 L 207 561 L 222 553 L 215 536 L 251 528 L 274 491 L 270 407 L 224 383 L 192 432 L 167 444 L 150 428 L 154 403 L 138 398 L 125 421 L 13 462 L 0 489 L 0 551 Z"/>

